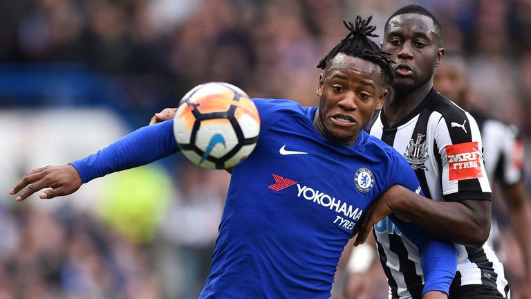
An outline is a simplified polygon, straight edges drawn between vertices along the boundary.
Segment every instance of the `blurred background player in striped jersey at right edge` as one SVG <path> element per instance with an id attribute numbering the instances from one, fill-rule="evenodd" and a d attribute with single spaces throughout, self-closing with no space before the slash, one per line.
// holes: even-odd
<path id="1" fill-rule="evenodd" d="M 523 175 L 523 142 L 518 127 L 509 125 L 484 111 L 472 109 L 468 100 L 468 72 L 464 57 L 458 53 L 446 53 L 438 66 L 434 77 L 434 87 L 443 96 L 450 98 L 463 109 L 467 109 L 478 123 L 483 148 L 485 149 L 485 169 L 491 187 L 494 182 L 501 188 L 503 199 L 507 203 L 507 217 L 514 237 L 522 253 L 524 277 L 521 288 L 514 289 L 512 295 L 531 298 L 531 203 L 526 190 Z M 493 208 L 496 208 L 494 201 Z M 496 213 L 492 218 L 492 228 L 487 242 L 499 251 L 499 228 Z M 518 294 L 516 294 L 518 291 Z"/>

